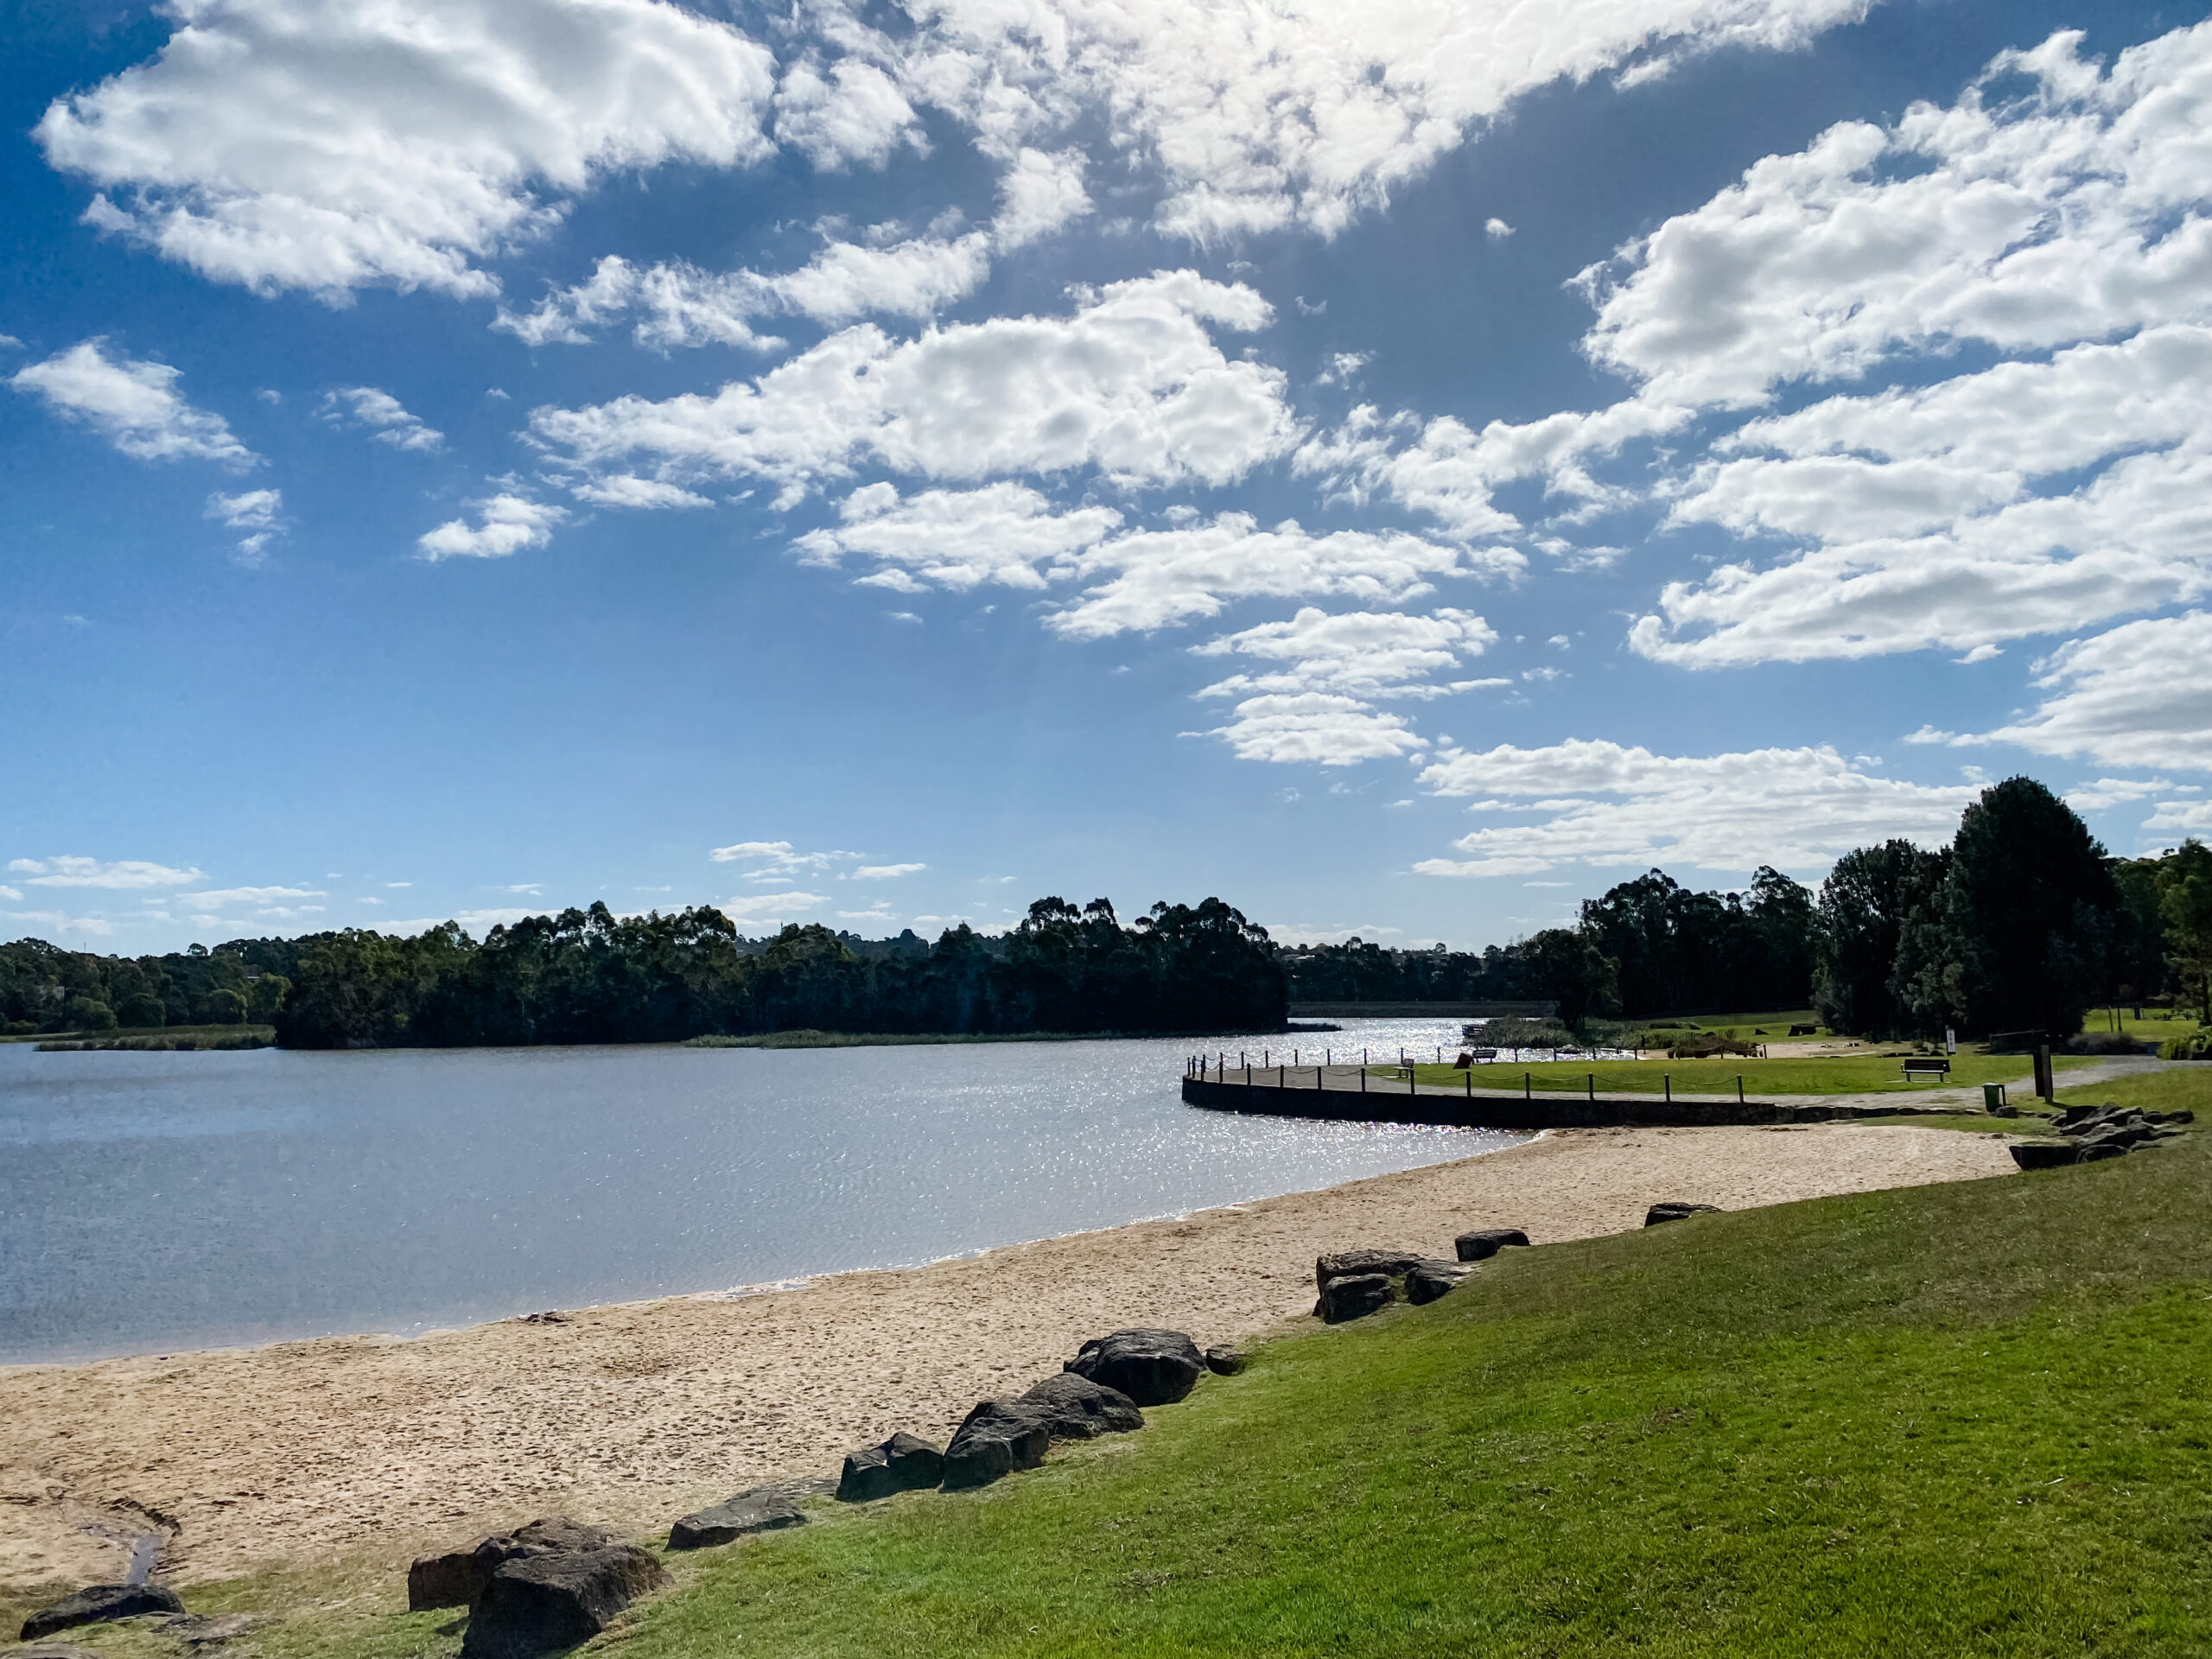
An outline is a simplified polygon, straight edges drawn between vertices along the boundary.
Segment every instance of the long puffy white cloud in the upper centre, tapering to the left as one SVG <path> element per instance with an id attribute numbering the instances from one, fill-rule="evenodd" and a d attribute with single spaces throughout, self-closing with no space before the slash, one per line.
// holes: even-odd
<path id="1" fill-rule="evenodd" d="M 714 396 L 538 409 L 531 429 L 586 473 L 768 478 L 785 502 L 865 460 L 940 480 L 1095 467 L 1128 484 L 1223 484 L 1296 436 L 1283 374 L 1208 334 L 1267 321 L 1250 288 L 1157 272 L 1079 294 L 1066 319 L 905 343 L 863 323 Z"/>

